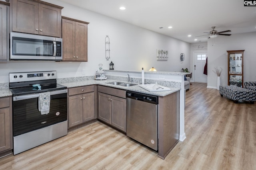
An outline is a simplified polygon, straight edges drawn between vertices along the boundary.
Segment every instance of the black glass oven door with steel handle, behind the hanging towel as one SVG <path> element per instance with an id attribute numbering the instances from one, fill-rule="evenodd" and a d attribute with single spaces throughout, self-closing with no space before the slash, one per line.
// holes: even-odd
<path id="1" fill-rule="evenodd" d="M 38 110 L 39 94 L 13 97 L 13 135 L 40 129 L 67 120 L 67 90 L 50 92 L 50 113 Z"/>

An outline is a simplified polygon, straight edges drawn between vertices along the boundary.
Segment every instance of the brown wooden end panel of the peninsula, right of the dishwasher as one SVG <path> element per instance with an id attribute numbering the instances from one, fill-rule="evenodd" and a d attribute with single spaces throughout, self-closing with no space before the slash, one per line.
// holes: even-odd
<path id="1" fill-rule="evenodd" d="M 162 159 L 179 141 L 179 93 L 158 98 L 158 157 Z"/>

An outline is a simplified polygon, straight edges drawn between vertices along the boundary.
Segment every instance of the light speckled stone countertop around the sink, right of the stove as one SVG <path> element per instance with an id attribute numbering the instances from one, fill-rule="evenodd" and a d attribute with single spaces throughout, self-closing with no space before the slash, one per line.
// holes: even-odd
<path id="1" fill-rule="evenodd" d="M 123 89 L 123 90 L 130 90 L 130 91 L 133 91 L 133 92 L 151 94 L 151 95 L 155 95 L 155 96 L 167 96 L 168 94 L 177 92 L 181 89 L 181 88 L 168 87 L 171 90 L 161 91 L 161 92 L 149 92 L 148 90 L 145 90 L 144 88 L 141 88 L 138 85 L 125 87 L 125 86 L 118 86 L 118 85 L 108 84 L 109 82 L 124 82 L 124 81 L 110 80 L 110 79 L 107 79 L 107 80 L 84 80 L 84 81 L 68 82 L 68 83 L 60 83 L 60 84 L 63 85 L 63 86 L 66 86 L 68 88 L 79 87 L 79 86 L 88 86 L 88 85 L 103 85 L 103 86 L 119 88 L 119 89 Z M 124 83 L 127 83 L 127 82 L 124 82 Z"/>

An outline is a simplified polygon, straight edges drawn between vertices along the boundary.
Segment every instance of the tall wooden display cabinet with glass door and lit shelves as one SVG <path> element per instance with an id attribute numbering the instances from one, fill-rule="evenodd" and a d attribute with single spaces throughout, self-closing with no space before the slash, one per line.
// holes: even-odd
<path id="1" fill-rule="evenodd" d="M 244 86 L 244 50 L 228 52 L 228 85 Z"/>

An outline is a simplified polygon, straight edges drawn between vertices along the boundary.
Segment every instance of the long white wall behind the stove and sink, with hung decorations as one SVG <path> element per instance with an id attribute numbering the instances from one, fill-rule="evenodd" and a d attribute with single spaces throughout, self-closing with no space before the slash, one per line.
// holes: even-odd
<path id="1" fill-rule="evenodd" d="M 189 55 L 190 44 L 172 37 L 109 18 L 82 8 L 60 2 L 44 0 L 63 6 L 62 16 L 90 22 L 88 25 L 88 62 L 9 61 L 0 62 L 0 83 L 9 82 L 9 72 L 56 70 L 58 78 L 91 76 L 103 64 L 109 68 L 113 61 L 115 70 L 178 71 L 190 62 L 180 63 L 180 53 Z M 110 60 L 105 59 L 105 37 L 110 38 Z M 168 61 L 156 61 L 156 49 L 168 50 Z M 85 69 L 86 74 L 82 74 Z"/>

